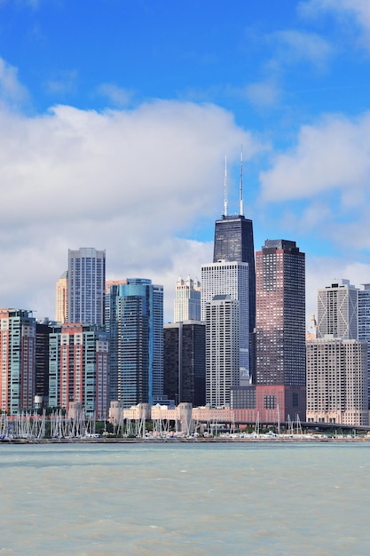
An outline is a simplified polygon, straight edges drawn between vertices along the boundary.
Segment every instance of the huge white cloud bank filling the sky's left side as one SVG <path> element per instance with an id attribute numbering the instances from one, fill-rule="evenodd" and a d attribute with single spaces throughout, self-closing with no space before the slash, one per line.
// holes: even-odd
<path id="1" fill-rule="evenodd" d="M 0 111 L 0 306 L 53 317 L 67 249 L 91 246 L 106 249 L 107 278 L 163 283 L 171 320 L 177 275 L 211 259 L 208 244 L 181 238 L 221 212 L 224 154 L 237 159 L 240 144 L 259 148 L 212 105 Z"/>

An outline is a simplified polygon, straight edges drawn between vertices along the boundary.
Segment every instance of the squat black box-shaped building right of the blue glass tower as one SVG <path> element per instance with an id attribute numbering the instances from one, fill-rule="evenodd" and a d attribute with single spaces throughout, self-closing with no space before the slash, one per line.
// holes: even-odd
<path id="1" fill-rule="evenodd" d="M 163 390 L 169 400 L 193 406 L 206 403 L 206 324 L 200 321 L 163 326 Z"/>

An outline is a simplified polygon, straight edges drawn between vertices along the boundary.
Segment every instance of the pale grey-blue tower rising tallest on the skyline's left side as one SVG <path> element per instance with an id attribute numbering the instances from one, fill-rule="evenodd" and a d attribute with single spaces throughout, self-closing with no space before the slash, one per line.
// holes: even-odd
<path id="1" fill-rule="evenodd" d="M 106 251 L 68 250 L 67 322 L 104 324 Z"/>

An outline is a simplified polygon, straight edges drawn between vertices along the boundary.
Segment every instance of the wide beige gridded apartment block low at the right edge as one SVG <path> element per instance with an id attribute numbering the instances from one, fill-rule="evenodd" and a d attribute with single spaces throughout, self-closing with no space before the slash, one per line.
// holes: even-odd
<path id="1" fill-rule="evenodd" d="M 308 340 L 307 421 L 368 425 L 366 342 L 337 338 Z"/>

